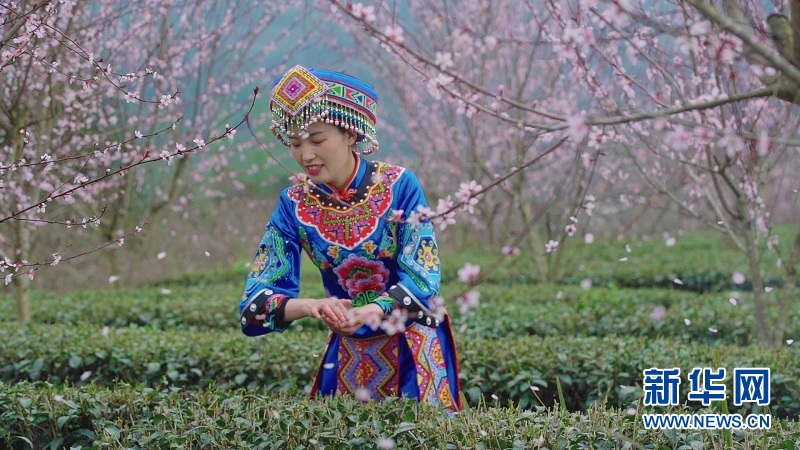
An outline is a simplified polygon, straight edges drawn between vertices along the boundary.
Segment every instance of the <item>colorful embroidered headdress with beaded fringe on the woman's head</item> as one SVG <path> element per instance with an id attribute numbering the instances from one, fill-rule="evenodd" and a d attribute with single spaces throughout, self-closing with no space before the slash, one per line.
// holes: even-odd
<path id="1" fill-rule="evenodd" d="M 360 153 L 378 150 L 378 95 L 370 85 L 349 75 L 294 66 L 273 83 L 270 110 L 270 130 L 284 145 L 312 123 L 325 122 L 355 130 Z"/>

